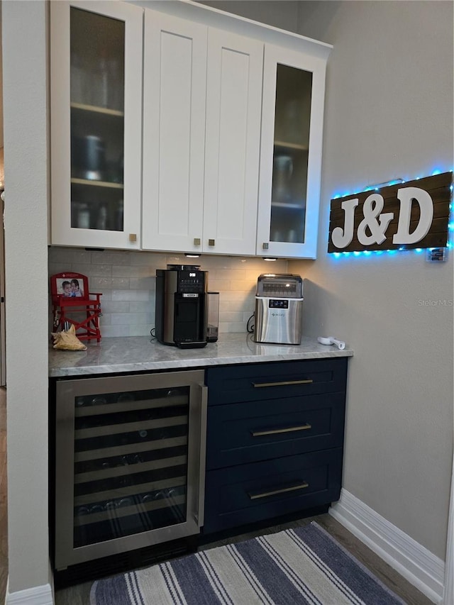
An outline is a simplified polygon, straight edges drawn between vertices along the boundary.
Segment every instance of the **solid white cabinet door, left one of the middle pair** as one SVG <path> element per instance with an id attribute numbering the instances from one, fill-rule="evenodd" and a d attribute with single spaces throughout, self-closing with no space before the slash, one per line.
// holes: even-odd
<path id="1" fill-rule="evenodd" d="M 142 245 L 148 250 L 201 251 L 206 38 L 206 26 L 145 10 Z"/>

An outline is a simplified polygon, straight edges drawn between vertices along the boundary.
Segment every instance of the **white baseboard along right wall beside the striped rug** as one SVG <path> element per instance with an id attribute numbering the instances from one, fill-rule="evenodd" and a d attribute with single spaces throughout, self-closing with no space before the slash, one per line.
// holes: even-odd
<path id="1" fill-rule="evenodd" d="M 445 577 L 443 560 L 345 489 L 341 491 L 341 499 L 329 509 L 329 514 L 428 599 L 441 604 Z"/>

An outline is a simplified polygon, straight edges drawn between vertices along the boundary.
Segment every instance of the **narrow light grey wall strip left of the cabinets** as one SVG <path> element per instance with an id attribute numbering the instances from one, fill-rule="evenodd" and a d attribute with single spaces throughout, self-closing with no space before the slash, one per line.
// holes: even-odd
<path id="1" fill-rule="evenodd" d="M 46 7 L 2 4 L 8 556 L 16 593 L 49 582 Z"/>

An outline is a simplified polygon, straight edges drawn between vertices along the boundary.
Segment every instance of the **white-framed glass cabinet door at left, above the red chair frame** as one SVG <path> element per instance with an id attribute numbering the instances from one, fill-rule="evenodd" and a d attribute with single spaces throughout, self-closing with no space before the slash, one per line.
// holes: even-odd
<path id="1" fill-rule="evenodd" d="M 142 18 L 50 3 L 52 244 L 139 248 Z"/>

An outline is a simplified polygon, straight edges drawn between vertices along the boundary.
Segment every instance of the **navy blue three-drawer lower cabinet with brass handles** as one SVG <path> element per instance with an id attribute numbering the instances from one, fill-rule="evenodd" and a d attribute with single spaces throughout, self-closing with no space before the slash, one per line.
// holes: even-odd
<path id="1" fill-rule="evenodd" d="M 347 357 L 206 370 L 204 534 L 341 492 Z"/>

